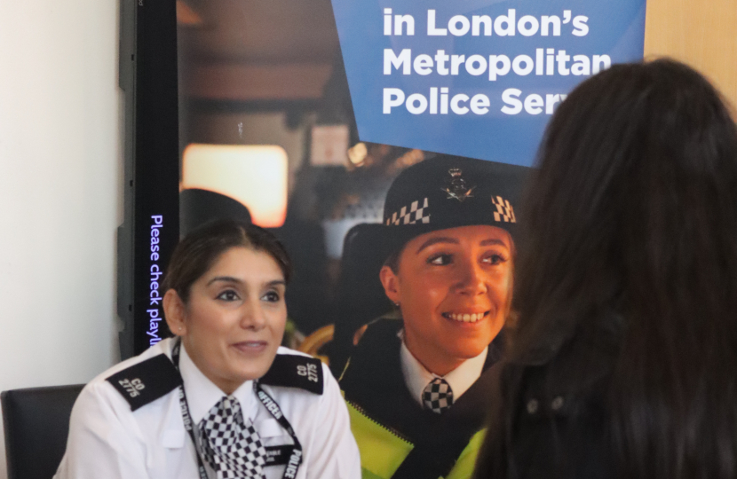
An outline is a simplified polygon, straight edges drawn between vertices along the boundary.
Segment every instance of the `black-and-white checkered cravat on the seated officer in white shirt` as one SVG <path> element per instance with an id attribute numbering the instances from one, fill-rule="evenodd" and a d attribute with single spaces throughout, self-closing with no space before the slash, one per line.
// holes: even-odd
<path id="1" fill-rule="evenodd" d="M 202 452 L 218 479 L 261 479 L 266 450 L 251 420 L 243 421 L 241 404 L 224 396 L 200 421 Z"/>

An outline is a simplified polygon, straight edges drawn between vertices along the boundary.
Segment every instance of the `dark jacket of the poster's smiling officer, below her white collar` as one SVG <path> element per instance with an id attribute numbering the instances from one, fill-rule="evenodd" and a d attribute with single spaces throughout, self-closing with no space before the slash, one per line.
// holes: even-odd
<path id="1" fill-rule="evenodd" d="M 471 437 L 484 428 L 487 398 L 494 389 L 490 367 L 501 357 L 501 338 L 489 347 L 484 372 L 443 414 L 424 410 L 410 396 L 401 372 L 402 322 L 371 323 L 340 379 L 345 400 L 414 444 L 393 479 L 437 479 L 448 474 Z"/>

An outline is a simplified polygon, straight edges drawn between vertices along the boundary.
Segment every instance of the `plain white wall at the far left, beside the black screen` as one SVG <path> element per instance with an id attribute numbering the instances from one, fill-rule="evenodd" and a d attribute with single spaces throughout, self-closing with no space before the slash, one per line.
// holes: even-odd
<path id="1" fill-rule="evenodd" d="M 117 19 L 115 0 L 0 0 L 0 390 L 118 358 Z"/>

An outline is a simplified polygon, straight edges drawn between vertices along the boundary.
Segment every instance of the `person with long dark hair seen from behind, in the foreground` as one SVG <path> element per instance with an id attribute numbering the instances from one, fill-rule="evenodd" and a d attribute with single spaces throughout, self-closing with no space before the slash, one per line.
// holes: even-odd
<path id="1" fill-rule="evenodd" d="M 737 130 L 678 62 L 554 115 L 523 203 L 519 323 L 476 477 L 737 476 Z"/>

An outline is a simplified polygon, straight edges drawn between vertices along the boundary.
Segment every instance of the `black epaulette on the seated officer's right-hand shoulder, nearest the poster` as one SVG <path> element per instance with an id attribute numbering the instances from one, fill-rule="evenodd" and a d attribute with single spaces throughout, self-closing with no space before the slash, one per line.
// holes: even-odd
<path id="1" fill-rule="evenodd" d="M 270 386 L 306 389 L 322 394 L 322 364 L 320 359 L 314 357 L 277 354 L 269 370 L 258 381 Z"/>

